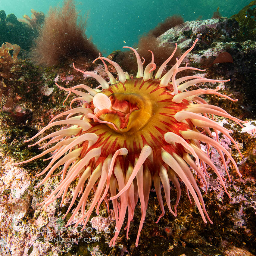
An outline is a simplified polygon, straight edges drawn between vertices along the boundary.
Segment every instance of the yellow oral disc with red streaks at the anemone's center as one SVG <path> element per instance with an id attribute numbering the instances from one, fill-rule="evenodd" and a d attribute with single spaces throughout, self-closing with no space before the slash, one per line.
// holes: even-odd
<path id="1" fill-rule="evenodd" d="M 188 103 L 173 102 L 171 91 L 161 87 L 160 81 L 131 79 L 100 92 L 111 100 L 111 107 L 99 110 L 96 116 L 114 126 L 95 122 L 91 123 L 92 128 L 88 132 L 99 136 L 102 154 L 108 155 L 125 145 L 128 151 L 133 152 L 135 159 L 145 144 L 158 152 L 160 146 L 168 144 L 164 140 L 164 133 L 188 128 L 185 123 L 179 123 L 174 118 L 178 111 L 187 108 Z M 161 156 L 161 152 L 158 153 L 154 154 L 155 158 Z"/>

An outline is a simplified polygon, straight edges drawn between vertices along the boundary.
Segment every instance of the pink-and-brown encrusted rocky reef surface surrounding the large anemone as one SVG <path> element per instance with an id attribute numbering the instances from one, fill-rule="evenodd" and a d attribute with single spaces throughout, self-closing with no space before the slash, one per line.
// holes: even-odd
<path id="1" fill-rule="evenodd" d="M 158 224 L 155 221 L 161 211 L 156 193 L 152 189 L 138 247 L 135 247 L 135 240 L 141 217 L 139 208 L 136 208 L 130 226 L 130 239 L 126 240 L 126 232 L 122 229 L 117 245 L 110 248 L 108 244 L 114 234 L 115 220 L 113 212 L 107 212 L 106 207 L 100 208 L 99 215 L 92 214 L 87 229 L 82 232 L 81 227 L 64 227 L 70 215 L 65 220 L 61 217 L 67 210 L 75 184 L 71 184 L 62 208 L 59 207 L 59 199 L 48 207 L 36 206 L 39 200 L 50 194 L 59 178 L 51 177 L 47 183 L 35 188 L 39 181 L 36 174 L 46 167 L 47 161 L 39 159 L 22 166 L 14 166 L 15 162 L 41 152 L 36 147 L 28 148 L 27 143 L 23 142 L 24 139 L 36 134 L 55 115 L 69 109 L 72 97 L 63 106 L 67 95 L 55 86 L 55 82 L 63 86 L 85 83 L 92 88 L 98 84 L 92 77 L 83 77 L 75 71 L 70 66 L 71 63 L 43 68 L 34 66 L 29 59 L 18 59 L 15 63 L 16 70 L 12 72 L 12 105 L 5 106 L 2 102 L 0 114 L 1 255 L 251 256 L 256 253 L 256 42 L 252 38 L 241 36 L 242 21 L 235 18 L 187 21 L 159 37 L 162 45 L 174 45 L 177 42 L 182 52 L 199 38 L 196 48 L 184 59 L 183 64 L 204 67 L 206 71 L 203 73 L 207 78 L 230 78 L 231 81 L 222 85 L 220 92 L 239 99 L 232 102 L 209 95 L 204 100 L 235 117 L 248 120 L 244 128 L 241 128 L 225 118 L 217 119 L 219 124 L 233 130 L 232 136 L 244 158 L 239 157 L 226 136 L 220 137 L 221 144 L 238 163 L 242 177 L 239 178 L 231 164 L 227 163 L 232 178 L 231 182 L 226 182 L 231 194 L 229 199 L 211 168 L 207 169 L 210 178 L 204 202 L 214 224 L 205 224 L 201 220 L 195 204 L 190 204 L 187 198 L 185 186 L 181 186 L 182 196 L 177 207 L 177 217 L 166 211 Z M 222 57 L 217 59 L 221 54 Z M 107 78 L 103 65 L 88 62 L 78 64 L 78 67 Z M 108 68 L 111 72 L 114 71 L 111 65 Z M 113 74 L 117 76 L 117 73 Z M 208 83 L 204 86 L 204 89 L 215 87 Z M 53 130 L 50 129 L 49 132 L 51 131 Z M 224 173 L 217 151 L 211 148 L 210 155 L 219 171 Z M 204 190 L 204 184 L 199 178 L 198 183 Z M 175 204 L 176 190 L 173 187 L 171 198 L 171 204 Z"/>

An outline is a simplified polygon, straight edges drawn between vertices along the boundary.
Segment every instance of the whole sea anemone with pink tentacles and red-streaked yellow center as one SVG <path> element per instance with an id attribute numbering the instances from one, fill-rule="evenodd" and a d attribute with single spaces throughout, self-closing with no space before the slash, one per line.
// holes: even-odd
<path id="1" fill-rule="evenodd" d="M 59 88 L 68 92 L 67 97 L 71 92 L 79 97 L 71 101 L 70 110 L 58 114 L 39 133 L 25 142 L 33 140 L 55 125 L 70 127 L 64 127 L 62 130 L 44 136 L 33 145 L 51 138 L 41 148 L 46 148 L 51 144 L 53 146 L 27 161 L 18 163 L 27 163 L 52 152 L 52 156 L 48 158 L 51 159 L 48 166 L 37 174 L 37 176 L 41 176 L 47 173 L 37 187 L 42 185 L 59 166 L 64 165 L 61 172 L 53 175 L 62 174 L 57 187 L 44 201 L 37 205 L 49 205 L 61 195 L 62 205 L 70 183 L 78 178 L 72 201 L 63 219 L 72 209 L 76 199 L 80 197 L 66 226 L 81 209 L 81 217 L 75 226 L 82 222 L 84 229 L 97 203 L 97 214 L 99 214 L 99 206 L 103 200 L 109 208 L 108 193 L 110 193 L 116 219 L 115 234 L 110 241 L 111 246 L 115 245 L 127 209 L 126 236 L 128 238 L 130 223 L 133 220 L 134 210 L 139 199 L 141 220 L 136 239 L 137 246 L 145 220 L 152 182 L 154 181 L 161 208 L 158 223 L 164 215 L 161 184 L 164 189 L 166 204 L 170 212 L 176 216 L 176 207 L 181 195 L 180 182 L 183 181 L 187 194 L 188 196 L 192 195 L 195 200 L 203 221 L 207 223 L 207 218 L 212 223 L 192 170 L 201 176 L 206 193 L 208 188 L 206 178 L 209 177 L 206 172 L 207 164 L 218 176 L 229 198 L 230 194 L 225 187 L 224 177 L 221 176 L 211 161 L 209 152 L 205 153 L 201 149 L 200 143 L 208 145 L 208 149 L 210 145 L 216 148 L 229 180 L 230 176 L 224 154 L 233 163 L 236 172 L 241 177 L 231 154 L 220 144 L 218 132 L 223 133 L 234 143 L 241 157 L 242 154 L 234 139 L 229 135 L 231 131 L 216 123 L 214 115 L 229 118 L 240 126 L 242 126 L 241 123 L 245 122 L 231 116 L 222 108 L 207 104 L 199 97 L 199 95 L 214 94 L 237 101 L 217 92 L 219 87 L 216 89 L 187 90 L 197 83 L 222 83 L 229 80 L 211 80 L 201 76 L 185 76 L 176 79 L 176 74 L 182 70 L 204 71 L 187 65 L 180 67 L 183 59 L 194 48 L 197 41 L 198 39 L 179 59 L 176 59 L 176 64 L 162 76 L 164 67 L 176 51 L 176 45 L 172 55 L 155 73 L 155 78 L 152 78 L 152 71 L 156 68 L 153 53 L 151 63 L 143 71 L 139 54 L 131 47 L 126 48 L 130 48 L 136 55 L 138 63 L 136 78 L 123 72 L 114 61 L 101 56 L 96 60 L 100 59 L 105 65 L 110 79 L 109 83 L 95 73 L 77 69 L 73 64 L 76 70 L 93 76 L 100 83 L 102 90 L 92 89 L 84 84 L 66 89 L 56 83 Z M 105 61 L 116 68 L 119 81 L 114 79 L 114 76 L 108 71 Z M 77 90 L 80 88 L 85 89 L 88 93 Z M 78 100 L 84 101 L 82 107 L 72 108 L 72 103 Z M 67 116 L 67 118 L 53 122 L 63 116 Z M 216 139 L 211 138 L 210 129 L 215 131 Z M 170 205 L 170 181 L 177 190 L 177 199 L 173 209 Z M 94 190 L 94 197 L 89 207 L 86 208 L 87 199 L 92 189 Z"/>

